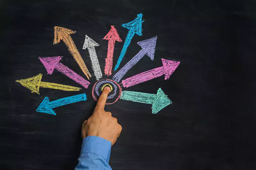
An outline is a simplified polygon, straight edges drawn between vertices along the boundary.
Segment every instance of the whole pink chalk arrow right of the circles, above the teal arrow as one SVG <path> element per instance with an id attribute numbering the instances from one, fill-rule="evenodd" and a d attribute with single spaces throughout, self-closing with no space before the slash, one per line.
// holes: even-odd
<path id="1" fill-rule="evenodd" d="M 163 62 L 162 67 L 157 67 L 152 70 L 148 70 L 148 71 L 142 72 L 140 74 L 134 75 L 132 77 L 129 77 L 125 80 L 122 80 L 123 86 L 131 87 L 136 84 L 140 84 L 142 82 L 152 80 L 156 77 L 160 77 L 162 75 L 164 75 L 164 80 L 169 79 L 170 76 L 172 75 L 172 73 L 179 66 L 180 61 L 162 59 L 162 62 Z"/>

